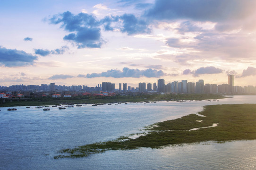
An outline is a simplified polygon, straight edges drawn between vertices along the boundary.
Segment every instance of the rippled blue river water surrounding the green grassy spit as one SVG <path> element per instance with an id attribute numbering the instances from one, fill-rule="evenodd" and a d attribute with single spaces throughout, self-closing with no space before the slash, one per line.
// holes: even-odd
<path id="1" fill-rule="evenodd" d="M 0 169 L 253 170 L 256 140 L 207 142 L 164 149 L 109 151 L 82 159 L 54 160 L 58 150 L 141 133 L 150 124 L 196 113 L 209 104 L 256 103 L 256 96 L 217 101 L 128 103 L 50 111 L 17 107 L 0 111 Z"/>

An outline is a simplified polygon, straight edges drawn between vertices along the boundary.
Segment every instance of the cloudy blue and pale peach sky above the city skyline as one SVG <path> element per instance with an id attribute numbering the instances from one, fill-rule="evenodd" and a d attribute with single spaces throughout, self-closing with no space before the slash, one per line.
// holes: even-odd
<path id="1" fill-rule="evenodd" d="M 255 0 L 1 0 L 0 85 L 256 85 Z"/>

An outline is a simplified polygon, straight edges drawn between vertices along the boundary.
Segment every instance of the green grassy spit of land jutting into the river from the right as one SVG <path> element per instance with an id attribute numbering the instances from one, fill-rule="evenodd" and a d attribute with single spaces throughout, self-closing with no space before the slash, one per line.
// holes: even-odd
<path id="1" fill-rule="evenodd" d="M 54 158 L 86 157 L 109 150 L 128 150 L 139 147 L 161 148 L 172 144 L 256 139 L 256 104 L 205 106 L 199 114 L 155 123 L 145 128 L 147 133 L 136 139 L 121 136 L 113 141 L 63 149 Z"/>

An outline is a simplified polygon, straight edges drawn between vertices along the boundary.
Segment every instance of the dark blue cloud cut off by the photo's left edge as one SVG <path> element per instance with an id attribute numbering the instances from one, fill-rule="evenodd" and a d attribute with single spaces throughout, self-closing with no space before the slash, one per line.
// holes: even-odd
<path id="1" fill-rule="evenodd" d="M 0 64 L 6 67 L 29 66 L 37 60 L 36 56 L 25 51 L 6 49 L 0 46 Z"/>

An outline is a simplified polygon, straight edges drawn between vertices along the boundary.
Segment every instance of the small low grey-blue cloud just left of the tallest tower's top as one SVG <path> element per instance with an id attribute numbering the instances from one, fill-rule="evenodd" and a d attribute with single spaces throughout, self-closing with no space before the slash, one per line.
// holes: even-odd
<path id="1" fill-rule="evenodd" d="M 191 71 L 190 69 L 186 69 L 183 71 L 183 75 L 192 74 L 193 76 L 198 76 L 201 74 L 219 74 L 222 72 L 223 72 L 222 69 L 210 66 L 210 67 L 201 67 L 194 71 Z"/>

